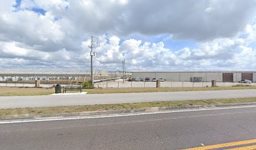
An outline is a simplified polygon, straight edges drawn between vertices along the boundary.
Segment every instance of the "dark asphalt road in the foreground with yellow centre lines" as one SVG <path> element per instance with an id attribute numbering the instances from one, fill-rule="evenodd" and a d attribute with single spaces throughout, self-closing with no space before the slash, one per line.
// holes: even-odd
<path id="1" fill-rule="evenodd" d="M 256 106 L 0 124 L 0 149 L 187 149 L 250 139 L 240 147 L 256 146 L 255 116 Z"/>

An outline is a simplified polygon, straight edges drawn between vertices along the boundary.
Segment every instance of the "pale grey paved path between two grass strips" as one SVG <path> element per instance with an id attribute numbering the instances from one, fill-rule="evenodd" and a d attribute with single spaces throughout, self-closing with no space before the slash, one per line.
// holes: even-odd
<path id="1" fill-rule="evenodd" d="M 242 97 L 256 97 L 256 89 L 223 91 L 181 91 L 163 93 L 85 94 L 65 96 L 1 96 L 0 109 Z"/>

